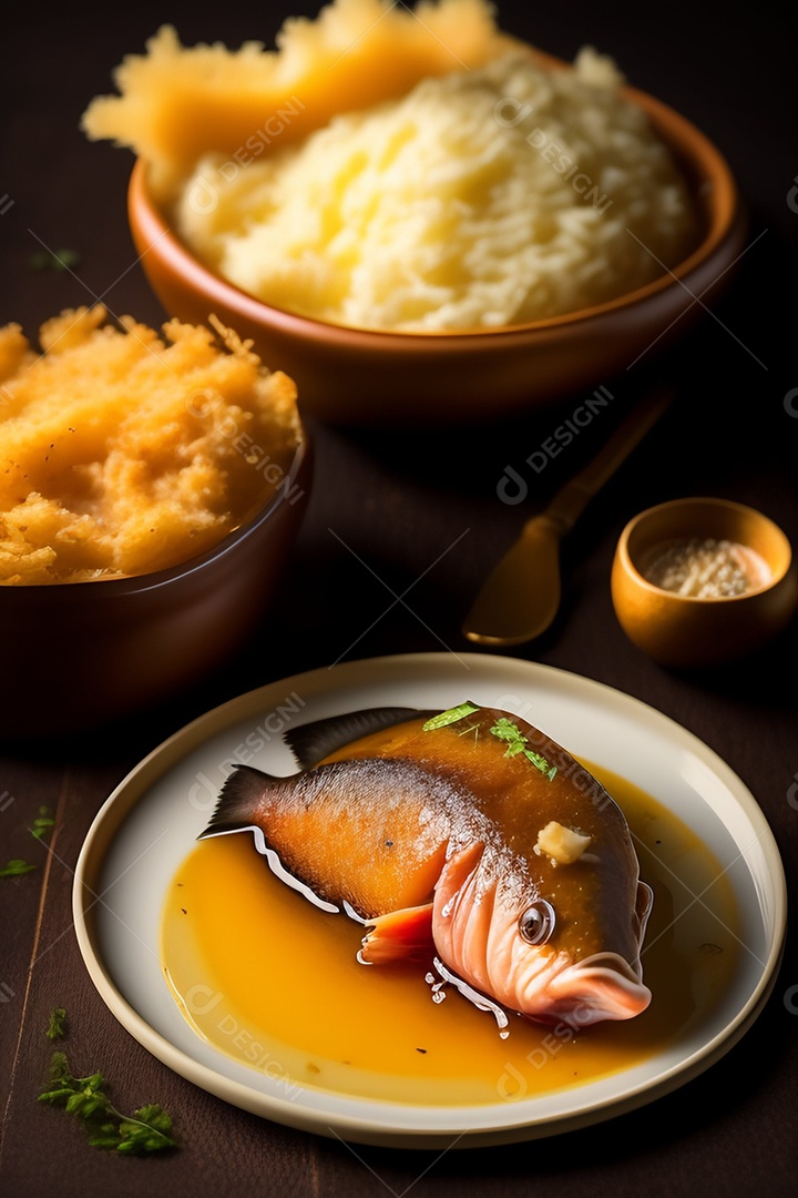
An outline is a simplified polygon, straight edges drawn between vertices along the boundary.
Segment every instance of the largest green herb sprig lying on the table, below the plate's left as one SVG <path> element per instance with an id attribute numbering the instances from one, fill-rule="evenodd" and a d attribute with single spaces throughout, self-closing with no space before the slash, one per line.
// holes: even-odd
<path id="1" fill-rule="evenodd" d="M 139 1107 L 133 1115 L 123 1115 L 104 1094 L 104 1085 L 102 1073 L 75 1077 L 66 1053 L 56 1052 L 50 1061 L 50 1088 L 39 1094 L 38 1101 L 63 1107 L 67 1114 L 74 1115 L 83 1124 L 92 1148 L 141 1156 L 176 1146 L 171 1117 L 162 1107 L 150 1103 Z"/>

